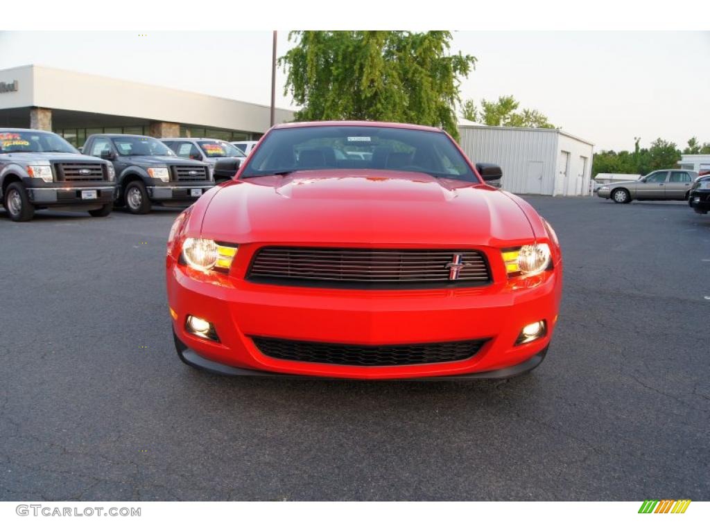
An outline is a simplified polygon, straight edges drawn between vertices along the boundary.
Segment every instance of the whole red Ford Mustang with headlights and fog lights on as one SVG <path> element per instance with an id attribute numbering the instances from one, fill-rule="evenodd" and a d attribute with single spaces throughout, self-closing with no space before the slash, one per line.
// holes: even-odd
<path id="1" fill-rule="evenodd" d="M 189 365 L 227 375 L 507 378 L 545 357 L 555 232 L 436 128 L 272 128 L 175 220 L 168 304 Z"/>

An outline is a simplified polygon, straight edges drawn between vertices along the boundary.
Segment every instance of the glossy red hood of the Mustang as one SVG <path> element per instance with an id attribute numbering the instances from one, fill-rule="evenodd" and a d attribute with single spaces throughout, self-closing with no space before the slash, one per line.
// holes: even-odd
<path id="1" fill-rule="evenodd" d="M 234 243 L 501 245 L 533 238 L 520 206 L 479 183 L 383 170 L 312 170 L 229 182 L 202 235 Z"/>

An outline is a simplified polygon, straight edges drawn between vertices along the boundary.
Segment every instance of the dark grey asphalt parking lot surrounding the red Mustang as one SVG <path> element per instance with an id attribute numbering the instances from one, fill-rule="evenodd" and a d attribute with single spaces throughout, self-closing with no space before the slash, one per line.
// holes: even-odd
<path id="1" fill-rule="evenodd" d="M 0 499 L 710 499 L 710 216 L 530 197 L 564 297 L 508 382 L 235 379 L 178 360 L 179 211 L 0 210 Z"/>

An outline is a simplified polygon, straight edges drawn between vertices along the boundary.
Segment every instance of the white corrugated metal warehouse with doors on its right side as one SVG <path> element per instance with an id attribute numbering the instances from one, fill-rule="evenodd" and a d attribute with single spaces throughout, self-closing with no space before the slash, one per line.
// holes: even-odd
<path id="1" fill-rule="evenodd" d="M 515 194 L 591 194 L 594 145 L 559 129 L 459 123 L 461 148 L 474 162 L 503 169 L 501 188 Z"/>

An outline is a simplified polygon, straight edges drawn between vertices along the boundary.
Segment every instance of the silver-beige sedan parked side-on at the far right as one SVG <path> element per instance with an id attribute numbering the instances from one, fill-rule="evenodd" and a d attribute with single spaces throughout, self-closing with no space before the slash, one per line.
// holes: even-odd
<path id="1" fill-rule="evenodd" d="M 690 185 L 698 177 L 692 170 L 655 170 L 636 181 L 605 184 L 596 191 L 600 198 L 628 203 L 632 199 L 687 200 Z"/>

